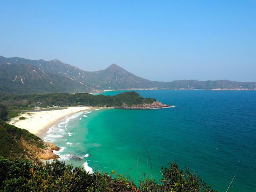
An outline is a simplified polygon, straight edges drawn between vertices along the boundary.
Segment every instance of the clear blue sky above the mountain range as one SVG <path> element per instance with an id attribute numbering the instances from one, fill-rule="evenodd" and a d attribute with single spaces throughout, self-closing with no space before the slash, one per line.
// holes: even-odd
<path id="1" fill-rule="evenodd" d="M 1 1 L 0 55 L 152 81 L 256 82 L 256 0 Z"/>

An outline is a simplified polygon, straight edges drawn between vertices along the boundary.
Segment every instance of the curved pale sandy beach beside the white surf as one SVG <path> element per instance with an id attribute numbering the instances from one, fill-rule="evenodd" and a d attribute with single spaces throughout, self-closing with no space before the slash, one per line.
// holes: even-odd
<path id="1" fill-rule="evenodd" d="M 24 120 L 19 120 L 19 117 L 12 119 L 9 124 L 14 124 L 18 128 L 26 129 L 30 133 L 37 136 L 42 136 L 48 131 L 50 127 L 56 124 L 58 121 L 65 118 L 65 116 L 77 113 L 80 111 L 88 110 L 93 107 L 68 107 L 65 109 L 56 108 L 54 110 L 34 110 L 32 112 L 25 112 L 20 116 L 25 117 Z"/>

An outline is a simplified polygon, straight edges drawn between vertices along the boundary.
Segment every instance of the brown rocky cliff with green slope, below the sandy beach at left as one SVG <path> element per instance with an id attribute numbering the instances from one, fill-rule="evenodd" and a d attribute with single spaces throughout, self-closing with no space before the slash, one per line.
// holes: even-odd
<path id="1" fill-rule="evenodd" d="M 52 150 L 60 150 L 50 142 L 44 142 L 28 130 L 17 128 L 13 125 L 0 122 L 0 156 L 13 159 L 29 159 L 36 165 L 42 160 L 58 158 Z"/>

